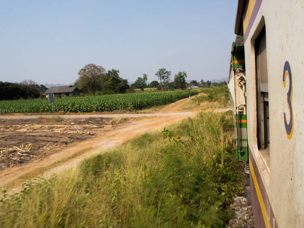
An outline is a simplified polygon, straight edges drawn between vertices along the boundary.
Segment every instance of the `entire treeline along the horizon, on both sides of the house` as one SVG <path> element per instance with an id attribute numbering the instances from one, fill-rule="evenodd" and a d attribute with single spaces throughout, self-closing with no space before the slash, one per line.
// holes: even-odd
<path id="1" fill-rule="evenodd" d="M 226 82 L 211 83 L 210 81 L 196 80 L 190 83 L 186 82 L 187 73 L 179 71 L 174 75 L 171 81 L 171 71 L 166 68 L 160 68 L 156 73 L 158 81 L 147 83 L 148 75 L 143 73 L 142 77 L 138 77 L 132 84 L 128 84 L 127 79 L 123 79 L 119 75 L 119 70 L 105 70 L 102 66 L 95 64 L 87 64 L 78 72 L 79 78 L 75 81 L 74 86 L 80 89 L 82 94 L 103 95 L 116 93 L 132 93 L 135 89 L 144 91 L 145 88 L 157 88 L 158 90 L 174 90 L 186 89 L 189 86 L 213 87 L 224 86 Z M 30 99 L 42 97 L 48 88 L 44 85 L 37 85 L 31 80 L 25 80 L 21 83 L 0 82 L 0 100 Z"/>

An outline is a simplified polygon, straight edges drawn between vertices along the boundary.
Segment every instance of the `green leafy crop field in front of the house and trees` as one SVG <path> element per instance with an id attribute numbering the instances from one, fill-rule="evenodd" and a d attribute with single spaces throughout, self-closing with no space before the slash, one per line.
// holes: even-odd
<path id="1" fill-rule="evenodd" d="M 198 94 L 191 90 L 191 96 Z M 92 112 L 114 110 L 140 110 L 165 105 L 186 98 L 188 91 L 145 92 L 111 94 L 103 96 L 55 98 L 54 111 Z M 0 101 L 0 114 L 52 112 L 48 99 Z"/>

